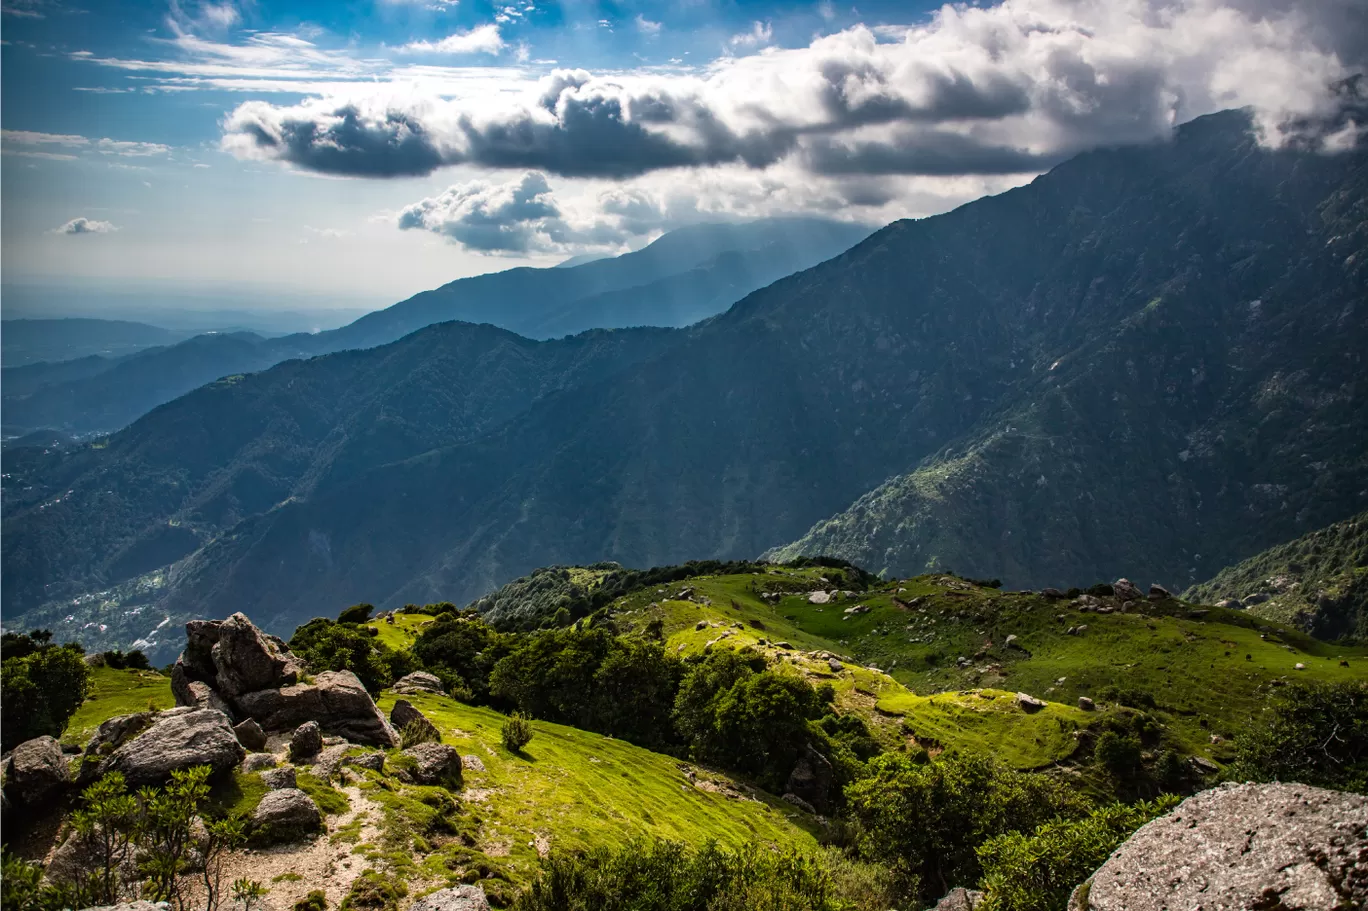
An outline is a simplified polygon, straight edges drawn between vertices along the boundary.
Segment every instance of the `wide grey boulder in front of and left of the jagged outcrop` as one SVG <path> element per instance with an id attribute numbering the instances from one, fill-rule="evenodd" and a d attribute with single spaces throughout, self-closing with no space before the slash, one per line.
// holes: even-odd
<path id="1" fill-rule="evenodd" d="M 246 750 L 228 717 L 213 709 L 170 709 L 152 726 L 100 763 L 98 774 L 122 771 L 129 788 L 161 784 L 178 769 L 209 766 L 215 774 L 242 762 Z"/>

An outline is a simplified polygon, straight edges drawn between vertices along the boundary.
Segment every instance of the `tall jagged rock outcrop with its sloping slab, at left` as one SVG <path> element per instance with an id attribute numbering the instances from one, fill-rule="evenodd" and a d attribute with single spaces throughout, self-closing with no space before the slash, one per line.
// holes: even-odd
<path id="1" fill-rule="evenodd" d="M 321 732 L 353 743 L 398 745 L 356 674 L 328 670 L 301 684 L 302 673 L 304 663 L 285 642 L 238 613 L 186 624 L 185 651 L 171 668 L 171 692 L 179 706 L 219 706 L 233 718 L 254 721 L 265 733 L 316 722 Z"/>

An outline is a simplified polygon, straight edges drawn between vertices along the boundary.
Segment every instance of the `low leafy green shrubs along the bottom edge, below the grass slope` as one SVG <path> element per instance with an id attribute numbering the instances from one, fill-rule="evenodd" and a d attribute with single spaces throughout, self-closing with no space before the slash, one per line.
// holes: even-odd
<path id="1" fill-rule="evenodd" d="M 891 907 L 892 892 L 867 869 L 828 856 L 747 845 L 633 841 L 584 854 L 553 852 L 513 903 L 516 911 L 844 911 Z M 862 901 L 855 904 L 852 899 Z"/>

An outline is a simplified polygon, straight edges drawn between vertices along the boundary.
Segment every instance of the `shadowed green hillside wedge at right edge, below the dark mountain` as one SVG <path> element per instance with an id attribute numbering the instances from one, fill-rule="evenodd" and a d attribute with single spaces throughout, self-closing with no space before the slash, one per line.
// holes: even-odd
<path id="1" fill-rule="evenodd" d="M 1250 614 L 1320 639 L 1368 640 L 1368 513 L 1223 569 L 1185 598 L 1241 602 Z"/>

